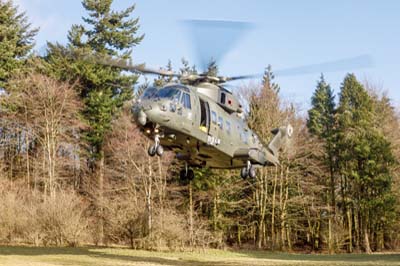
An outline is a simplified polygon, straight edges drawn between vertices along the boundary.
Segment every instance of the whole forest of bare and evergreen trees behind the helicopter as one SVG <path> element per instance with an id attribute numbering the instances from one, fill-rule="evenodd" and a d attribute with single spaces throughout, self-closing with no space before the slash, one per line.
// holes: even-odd
<path id="1" fill-rule="evenodd" d="M 130 112 L 147 86 L 177 81 L 139 84 L 87 60 L 130 59 L 145 38 L 135 6 L 115 11 L 112 2 L 83 0 L 86 17 L 67 43 L 49 42 L 39 55 L 40 29 L 0 0 L 0 244 L 331 254 L 400 247 L 399 109 L 382 88 L 351 73 L 331 88 L 321 74 L 304 112 L 282 98 L 266 66 L 259 83 L 236 93 L 265 143 L 273 128 L 295 129 L 281 165 L 245 180 L 239 170 L 195 169 L 183 181 L 174 154 L 147 156 L 151 141 Z M 179 67 L 195 71 L 186 59 Z"/>

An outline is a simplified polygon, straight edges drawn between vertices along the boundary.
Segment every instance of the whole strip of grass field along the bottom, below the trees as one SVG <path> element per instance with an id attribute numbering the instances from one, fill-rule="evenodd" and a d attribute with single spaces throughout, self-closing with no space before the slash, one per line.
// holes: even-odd
<path id="1" fill-rule="evenodd" d="M 129 249 L 0 247 L 0 265 L 400 265 L 400 254 L 295 255 L 262 251 L 148 252 Z"/>

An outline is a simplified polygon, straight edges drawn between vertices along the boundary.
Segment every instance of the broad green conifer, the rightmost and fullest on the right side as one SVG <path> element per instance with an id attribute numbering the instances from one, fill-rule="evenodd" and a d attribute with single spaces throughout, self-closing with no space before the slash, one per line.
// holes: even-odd
<path id="1" fill-rule="evenodd" d="M 337 154 L 343 207 L 347 213 L 349 251 L 371 251 L 371 228 L 393 214 L 390 143 L 375 126 L 374 103 L 353 74 L 344 79 L 338 107 Z M 376 215 L 379 215 L 379 219 Z M 351 233 L 354 224 L 354 234 Z M 354 242 L 352 242 L 354 241 Z"/>

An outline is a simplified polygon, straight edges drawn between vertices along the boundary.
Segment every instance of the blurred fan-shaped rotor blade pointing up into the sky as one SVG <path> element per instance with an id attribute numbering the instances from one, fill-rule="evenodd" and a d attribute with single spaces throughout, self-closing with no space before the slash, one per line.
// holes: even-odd
<path id="1" fill-rule="evenodd" d="M 205 71 L 211 60 L 217 63 L 252 28 L 248 22 L 223 20 L 185 20 L 192 37 L 196 59 Z"/>

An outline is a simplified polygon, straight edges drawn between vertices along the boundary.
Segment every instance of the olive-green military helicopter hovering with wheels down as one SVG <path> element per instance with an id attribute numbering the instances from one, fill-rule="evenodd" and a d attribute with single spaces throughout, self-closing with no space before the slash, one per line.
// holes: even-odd
<path id="1" fill-rule="evenodd" d="M 226 28 L 237 27 L 237 23 L 220 21 L 195 21 L 198 26 Z M 242 25 L 242 24 L 239 24 Z M 339 69 L 368 58 L 340 60 L 327 65 L 311 65 L 301 68 L 302 72 L 314 68 Z M 240 176 L 254 178 L 256 167 L 279 164 L 279 151 L 292 137 L 291 125 L 272 130 L 273 138 L 264 144 L 249 128 L 243 107 L 235 95 L 223 85 L 229 81 L 254 78 L 258 75 L 211 76 L 207 73 L 175 73 L 166 70 L 132 65 L 123 60 L 102 60 L 103 64 L 119 67 L 126 71 L 176 78 L 162 88 L 148 87 L 134 104 L 132 114 L 147 137 L 154 140 L 148 149 L 149 156 L 162 156 L 164 150 L 176 153 L 185 162 L 180 172 L 182 179 L 193 179 L 193 167 L 219 169 L 241 168 Z M 361 62 L 364 64 L 365 62 Z M 367 62 L 368 63 L 368 62 Z M 299 69 L 288 69 L 286 73 L 297 74 Z M 334 70 L 334 69 L 333 69 Z M 285 71 L 282 72 L 285 74 Z"/>

